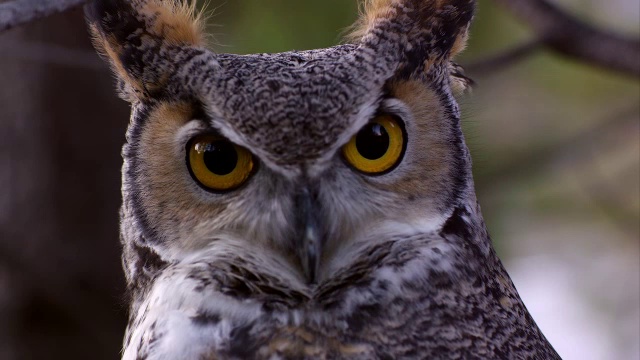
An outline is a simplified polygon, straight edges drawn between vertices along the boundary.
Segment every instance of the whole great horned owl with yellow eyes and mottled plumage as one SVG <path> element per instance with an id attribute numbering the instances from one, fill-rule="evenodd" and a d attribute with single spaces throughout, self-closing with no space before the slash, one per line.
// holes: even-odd
<path id="1" fill-rule="evenodd" d="M 453 89 L 473 0 L 216 54 L 194 7 L 87 6 L 132 104 L 124 359 L 558 358 L 496 257 Z"/>

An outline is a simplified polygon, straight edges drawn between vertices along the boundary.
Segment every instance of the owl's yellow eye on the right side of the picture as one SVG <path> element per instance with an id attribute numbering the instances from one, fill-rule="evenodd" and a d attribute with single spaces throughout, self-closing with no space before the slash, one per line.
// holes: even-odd
<path id="1" fill-rule="evenodd" d="M 382 174 L 400 162 L 405 135 L 391 115 L 377 116 L 363 127 L 342 149 L 351 166 L 366 174 Z"/>

